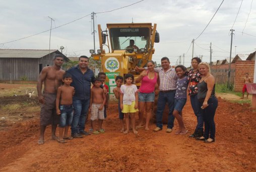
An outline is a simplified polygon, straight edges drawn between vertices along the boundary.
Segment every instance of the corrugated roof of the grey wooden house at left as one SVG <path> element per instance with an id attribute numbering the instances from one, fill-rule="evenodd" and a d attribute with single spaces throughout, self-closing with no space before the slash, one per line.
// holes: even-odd
<path id="1" fill-rule="evenodd" d="M 0 49 L 0 58 L 41 58 L 57 50 Z"/>

